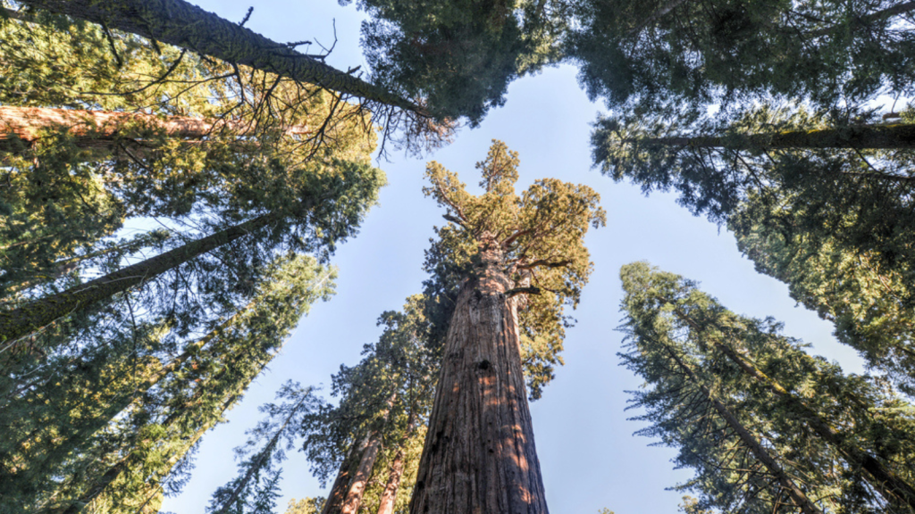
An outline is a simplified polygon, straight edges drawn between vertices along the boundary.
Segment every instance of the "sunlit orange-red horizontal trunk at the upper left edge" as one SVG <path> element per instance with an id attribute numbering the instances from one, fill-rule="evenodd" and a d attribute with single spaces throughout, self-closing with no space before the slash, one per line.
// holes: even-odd
<path id="1" fill-rule="evenodd" d="M 79 146 L 110 149 L 119 135 L 130 135 L 124 134 L 124 123 L 137 123 L 143 129 L 163 132 L 170 137 L 195 140 L 207 137 L 223 127 L 242 134 L 250 128 L 248 123 L 188 116 L 162 118 L 136 112 L 0 106 L 0 151 L 16 150 L 16 139 L 27 145 L 35 143 L 43 130 L 56 127 L 67 127 Z M 286 134 L 307 133 L 307 127 L 286 129 Z"/>

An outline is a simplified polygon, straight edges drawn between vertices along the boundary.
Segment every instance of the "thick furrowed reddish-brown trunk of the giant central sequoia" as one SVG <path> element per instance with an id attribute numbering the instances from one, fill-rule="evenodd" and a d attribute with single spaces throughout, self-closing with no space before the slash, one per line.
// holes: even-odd
<path id="1" fill-rule="evenodd" d="M 545 514 L 515 299 L 484 242 L 458 293 L 420 458 L 413 514 Z"/>

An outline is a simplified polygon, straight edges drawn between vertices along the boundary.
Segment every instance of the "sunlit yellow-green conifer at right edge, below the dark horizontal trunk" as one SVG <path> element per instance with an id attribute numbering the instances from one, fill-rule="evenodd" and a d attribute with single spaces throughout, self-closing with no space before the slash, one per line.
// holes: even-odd
<path id="1" fill-rule="evenodd" d="M 759 273 L 788 284 L 791 297 L 834 323 L 835 336 L 867 366 L 915 396 L 915 349 L 907 273 L 877 265 L 875 252 L 802 230 L 790 210 L 753 203 L 728 223 Z"/>

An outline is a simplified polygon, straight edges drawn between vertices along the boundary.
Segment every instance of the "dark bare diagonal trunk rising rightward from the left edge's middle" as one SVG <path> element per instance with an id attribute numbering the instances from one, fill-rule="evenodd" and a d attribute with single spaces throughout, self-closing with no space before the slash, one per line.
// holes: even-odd
<path id="1" fill-rule="evenodd" d="M 16 339 L 46 327 L 61 316 L 85 309 L 113 294 L 123 293 L 203 253 L 235 241 L 254 230 L 262 229 L 276 220 L 279 220 L 279 215 L 264 214 L 58 294 L 49 295 L 16 309 L 0 311 L 0 341 L 5 345 L 14 344 Z"/>

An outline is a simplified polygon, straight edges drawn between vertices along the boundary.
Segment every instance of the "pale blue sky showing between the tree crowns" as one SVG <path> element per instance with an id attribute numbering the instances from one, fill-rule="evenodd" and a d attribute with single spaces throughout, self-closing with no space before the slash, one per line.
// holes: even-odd
<path id="1" fill-rule="evenodd" d="M 195 3 L 237 21 L 251 0 Z M 361 64 L 364 70 L 361 19 L 353 5 L 339 6 L 334 0 L 261 0 L 246 27 L 276 41 L 317 39 L 329 46 L 336 20 L 338 41 L 328 63 L 340 69 Z M 595 272 L 574 313 L 578 324 L 568 330 L 565 367 L 556 371 L 544 398 L 532 404 L 546 498 L 554 513 L 596 513 L 605 507 L 616 514 L 673 513 L 680 495 L 665 487 L 690 476 L 688 470 L 673 470 L 673 450 L 650 447 L 651 439 L 633 436 L 642 425 L 627 421 L 635 412 L 624 412 L 624 391 L 640 385 L 616 357 L 619 267 L 625 263 L 645 260 L 698 280 L 732 310 L 774 316 L 785 323 L 786 334 L 812 343 L 814 352 L 838 360 L 846 371 L 861 372 L 860 359 L 835 343 L 831 326 L 795 306 L 786 286 L 754 272 L 726 230 L 693 217 L 673 195 L 646 198 L 638 187 L 614 183 L 592 169 L 590 125 L 600 109 L 578 87 L 574 68 L 551 68 L 511 84 L 505 106 L 490 112 L 479 128 L 462 129 L 453 144 L 422 158 L 392 153 L 389 162 L 382 162 L 390 184 L 382 190 L 381 205 L 334 259 L 338 294 L 312 309 L 270 370 L 230 412 L 229 423 L 205 436 L 185 492 L 167 498 L 163 509 L 204 511 L 212 492 L 234 477 L 231 448 L 242 444 L 244 431 L 259 419 L 257 406 L 271 401 L 285 380 L 328 384 L 341 363 L 360 359 L 362 345 L 380 333 L 375 320 L 382 311 L 399 308 L 408 295 L 419 292 L 425 278 L 423 251 L 433 226 L 445 223 L 441 209 L 422 194 L 425 162 L 436 160 L 476 184 L 474 163 L 485 157 L 492 139 L 519 152 L 519 190 L 542 177 L 584 183 L 600 193 L 608 211 L 608 226 L 587 236 Z M 325 494 L 300 453 L 291 453 L 284 469 L 284 508 L 290 498 Z"/>

